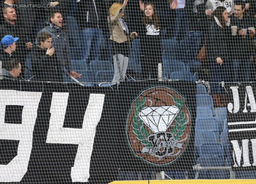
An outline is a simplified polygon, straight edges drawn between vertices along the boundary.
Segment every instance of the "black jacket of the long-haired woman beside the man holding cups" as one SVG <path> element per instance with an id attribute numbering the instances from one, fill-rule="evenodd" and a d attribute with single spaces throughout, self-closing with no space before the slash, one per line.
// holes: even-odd
<path id="1" fill-rule="evenodd" d="M 209 63 L 216 63 L 216 58 L 221 57 L 223 61 L 232 58 L 231 29 L 220 27 L 216 21 L 210 22 L 209 33 L 206 39 L 207 57 Z"/>

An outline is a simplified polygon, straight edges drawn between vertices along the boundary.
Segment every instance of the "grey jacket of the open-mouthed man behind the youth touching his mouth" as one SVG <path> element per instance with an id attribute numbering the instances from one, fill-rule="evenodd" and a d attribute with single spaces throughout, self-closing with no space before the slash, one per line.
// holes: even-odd
<path id="1" fill-rule="evenodd" d="M 70 57 L 70 47 L 68 43 L 68 35 L 66 32 L 64 30 L 56 31 L 50 26 L 44 27 L 41 31 L 38 32 L 38 34 L 42 32 L 47 32 L 52 35 L 52 47 L 55 48 L 58 62 L 62 67 L 66 67 L 68 72 L 72 71 L 73 68 Z M 38 44 L 37 38 L 35 44 Z"/>

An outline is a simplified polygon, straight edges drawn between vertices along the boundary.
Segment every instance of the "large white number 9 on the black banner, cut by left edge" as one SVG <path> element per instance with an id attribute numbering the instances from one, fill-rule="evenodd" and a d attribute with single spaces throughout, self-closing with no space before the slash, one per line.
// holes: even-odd
<path id="1" fill-rule="evenodd" d="M 18 154 L 7 165 L 0 164 L 0 182 L 20 182 L 28 170 L 34 125 L 41 92 L 0 90 L 0 139 L 18 140 Z M 7 105 L 23 106 L 22 124 L 4 123 Z"/>

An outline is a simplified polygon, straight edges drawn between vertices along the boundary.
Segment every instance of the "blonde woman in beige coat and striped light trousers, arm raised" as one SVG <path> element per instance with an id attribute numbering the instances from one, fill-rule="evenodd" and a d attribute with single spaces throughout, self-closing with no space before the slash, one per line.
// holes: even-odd
<path id="1" fill-rule="evenodd" d="M 112 82 L 124 81 L 126 69 L 129 62 L 130 39 L 138 36 L 136 32 L 130 33 L 124 16 L 124 9 L 128 0 L 124 3 L 115 2 L 110 7 L 110 17 L 108 17 L 108 25 L 110 29 L 110 40 L 112 43 L 112 52 L 114 60 L 114 78 Z"/>

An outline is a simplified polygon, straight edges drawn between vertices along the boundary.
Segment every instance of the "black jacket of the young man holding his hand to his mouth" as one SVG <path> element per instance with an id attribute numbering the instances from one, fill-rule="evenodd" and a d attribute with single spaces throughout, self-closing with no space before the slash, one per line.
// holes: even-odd
<path id="1" fill-rule="evenodd" d="M 46 54 L 47 49 L 35 45 L 30 53 L 33 79 L 39 81 L 63 82 L 61 67 L 56 53 L 52 56 Z"/>

